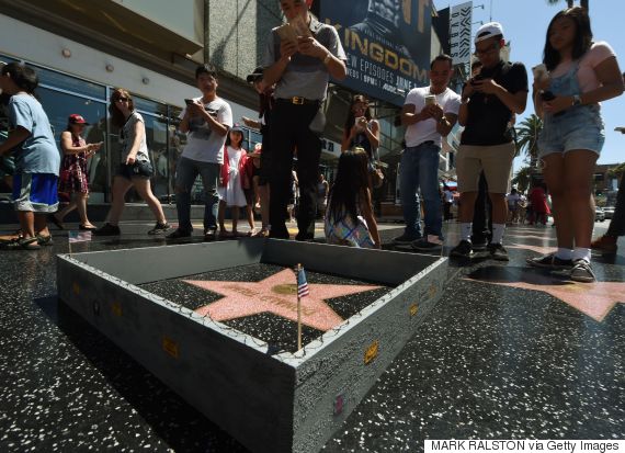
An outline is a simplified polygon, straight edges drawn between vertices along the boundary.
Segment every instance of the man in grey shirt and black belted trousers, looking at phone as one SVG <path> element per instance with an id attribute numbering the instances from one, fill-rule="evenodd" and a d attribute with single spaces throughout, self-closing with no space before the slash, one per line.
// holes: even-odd
<path id="1" fill-rule="evenodd" d="M 325 127 L 320 110 L 330 77 L 346 77 L 346 56 L 337 30 L 317 21 L 308 11 L 311 1 L 281 0 L 280 5 L 289 24 L 303 23 L 297 41 L 272 30 L 268 39 L 263 79 L 275 83 L 270 140 L 272 172 L 270 178 L 270 237 L 288 239 L 286 205 L 291 195 L 293 154 L 297 149 L 299 208 L 297 240 L 314 238 L 309 228 L 315 222 L 317 179 L 321 157 L 320 135 Z M 300 29 L 300 27 L 296 27 Z"/>

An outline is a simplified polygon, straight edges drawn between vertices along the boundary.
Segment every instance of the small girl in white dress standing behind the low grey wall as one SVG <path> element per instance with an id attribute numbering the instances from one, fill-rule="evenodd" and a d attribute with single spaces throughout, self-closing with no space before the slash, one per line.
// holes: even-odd
<path id="1" fill-rule="evenodd" d="M 219 194 L 219 236 L 237 236 L 237 223 L 239 222 L 239 206 L 247 206 L 250 231 L 254 231 L 251 195 L 251 160 L 247 151 L 241 147 L 243 131 L 235 125 L 228 133 L 228 139 L 224 148 L 224 165 L 221 166 L 220 183 L 217 189 Z M 247 193 L 246 193 L 247 192 Z M 232 209 L 232 231 L 224 226 L 226 206 Z"/>

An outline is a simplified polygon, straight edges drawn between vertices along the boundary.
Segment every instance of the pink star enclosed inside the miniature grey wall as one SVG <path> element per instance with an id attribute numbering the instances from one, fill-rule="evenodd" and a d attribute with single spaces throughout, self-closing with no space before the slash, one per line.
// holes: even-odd
<path id="1" fill-rule="evenodd" d="M 295 274 L 284 269 L 260 282 L 213 282 L 184 280 L 204 290 L 223 294 L 213 304 L 197 308 L 196 314 L 208 315 L 216 321 L 242 318 L 270 312 L 297 322 L 297 285 Z M 310 295 L 302 298 L 302 324 L 327 331 L 343 319 L 326 304 L 325 299 L 377 290 L 368 285 L 327 285 L 308 283 Z"/>

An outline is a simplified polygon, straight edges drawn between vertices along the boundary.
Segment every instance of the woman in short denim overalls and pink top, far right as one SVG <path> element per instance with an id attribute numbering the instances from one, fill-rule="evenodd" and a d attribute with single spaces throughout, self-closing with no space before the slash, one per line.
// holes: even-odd
<path id="1" fill-rule="evenodd" d="M 594 282 L 592 174 L 605 138 L 599 102 L 623 92 L 621 70 L 611 47 L 592 42 L 590 19 L 582 8 L 554 16 L 543 61 L 550 77 L 535 73 L 533 98 L 544 120 L 538 152 L 552 193 L 558 250 L 527 261 L 559 269 L 573 281 Z"/>

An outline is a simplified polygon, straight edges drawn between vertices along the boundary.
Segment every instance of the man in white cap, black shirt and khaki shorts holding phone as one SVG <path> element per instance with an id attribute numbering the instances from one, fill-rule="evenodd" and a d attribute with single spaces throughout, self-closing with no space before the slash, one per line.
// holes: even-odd
<path id="1" fill-rule="evenodd" d="M 486 23 L 477 31 L 475 49 L 482 67 L 479 77 L 465 84 L 458 114 L 458 123 L 465 126 L 456 161 L 461 241 L 452 249 L 452 257 L 473 256 L 471 220 L 479 175 L 484 171 L 492 203 L 492 237 L 488 251 L 492 259 L 508 261 L 508 251 L 501 242 L 508 217 L 505 194 L 515 152 L 510 124 L 513 114 L 525 110 L 529 87 L 523 64 L 502 60 L 504 45 L 500 23 Z"/>

